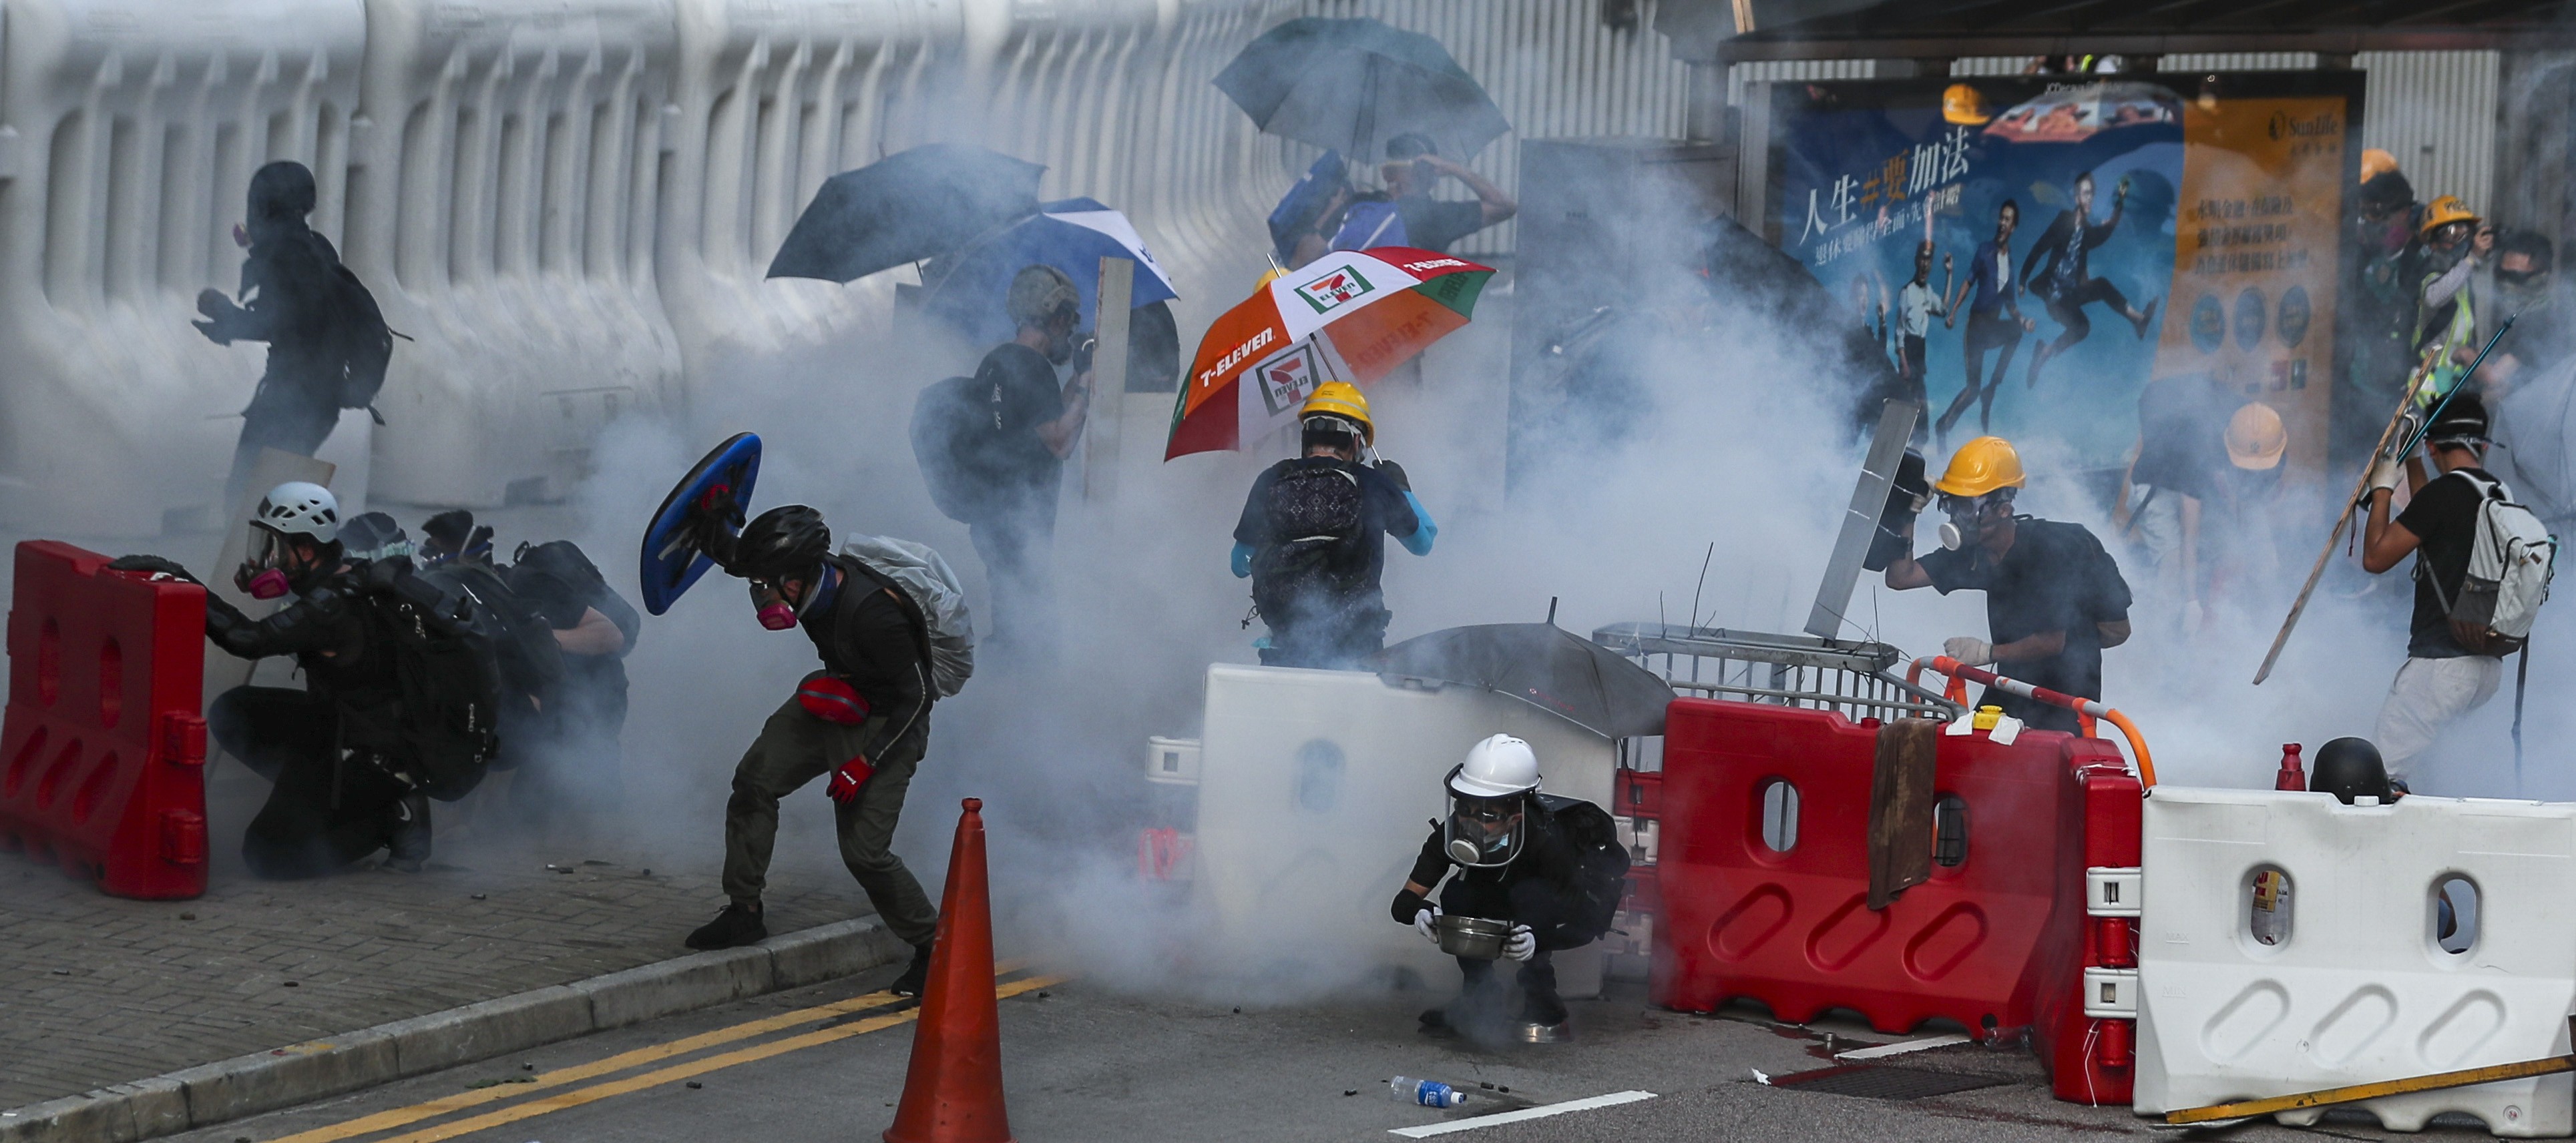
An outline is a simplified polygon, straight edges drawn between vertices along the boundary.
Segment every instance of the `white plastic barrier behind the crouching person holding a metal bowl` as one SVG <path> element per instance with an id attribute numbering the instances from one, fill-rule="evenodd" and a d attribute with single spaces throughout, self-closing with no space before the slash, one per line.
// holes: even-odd
<path id="1" fill-rule="evenodd" d="M 1211 945 L 1298 978 L 1409 965 L 1455 981 L 1455 963 L 1386 906 L 1448 811 L 1443 775 L 1489 734 L 1530 741 L 1543 790 L 1610 803 L 1613 744 L 1528 703 L 1363 672 L 1208 667 L 1193 901 Z M 1569 996 L 1597 991 L 1597 947 L 1561 955 L 1558 978 Z"/>

